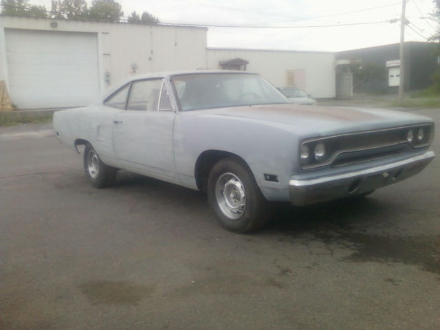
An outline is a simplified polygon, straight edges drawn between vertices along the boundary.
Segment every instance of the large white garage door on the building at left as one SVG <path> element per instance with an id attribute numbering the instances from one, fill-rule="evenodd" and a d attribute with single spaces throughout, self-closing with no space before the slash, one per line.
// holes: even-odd
<path id="1" fill-rule="evenodd" d="M 79 107 L 98 95 L 96 34 L 5 29 L 5 41 L 19 109 Z"/>

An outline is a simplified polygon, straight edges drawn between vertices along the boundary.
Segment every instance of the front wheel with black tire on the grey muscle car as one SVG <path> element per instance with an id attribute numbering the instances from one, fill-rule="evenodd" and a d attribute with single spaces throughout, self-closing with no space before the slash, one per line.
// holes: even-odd
<path id="1" fill-rule="evenodd" d="M 251 232 L 270 218 L 270 210 L 250 168 L 237 157 L 214 164 L 208 177 L 208 201 L 219 224 L 231 232 Z"/>

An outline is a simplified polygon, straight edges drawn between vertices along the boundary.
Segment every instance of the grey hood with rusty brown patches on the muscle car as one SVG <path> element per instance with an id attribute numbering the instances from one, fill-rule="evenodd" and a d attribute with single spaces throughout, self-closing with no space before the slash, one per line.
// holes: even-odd
<path id="1" fill-rule="evenodd" d="M 298 135 L 333 135 L 432 122 L 403 111 L 299 104 L 268 104 L 190 111 L 195 115 L 230 116 L 278 126 Z"/>

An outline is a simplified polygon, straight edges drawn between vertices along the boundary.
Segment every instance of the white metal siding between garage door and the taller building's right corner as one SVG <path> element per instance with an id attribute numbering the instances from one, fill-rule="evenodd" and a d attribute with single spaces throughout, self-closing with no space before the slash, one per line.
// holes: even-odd
<path id="1" fill-rule="evenodd" d="M 104 70 L 110 84 L 137 66 L 136 74 L 206 68 L 206 30 L 120 24 L 102 34 Z"/>

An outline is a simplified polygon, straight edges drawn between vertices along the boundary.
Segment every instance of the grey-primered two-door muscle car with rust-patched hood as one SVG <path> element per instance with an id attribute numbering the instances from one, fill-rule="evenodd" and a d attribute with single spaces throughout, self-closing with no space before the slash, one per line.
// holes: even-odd
<path id="1" fill-rule="evenodd" d="M 268 201 L 365 196 L 434 158 L 429 118 L 291 104 L 248 72 L 133 76 L 89 107 L 56 112 L 54 129 L 63 144 L 85 146 L 92 186 L 124 169 L 204 190 L 234 232 L 264 225 Z"/>

